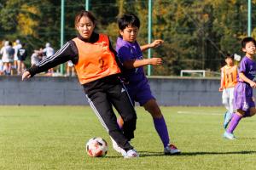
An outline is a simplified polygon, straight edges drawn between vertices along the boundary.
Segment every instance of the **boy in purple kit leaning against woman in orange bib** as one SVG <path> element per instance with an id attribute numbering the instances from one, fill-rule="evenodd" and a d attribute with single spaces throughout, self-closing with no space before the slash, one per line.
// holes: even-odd
<path id="1" fill-rule="evenodd" d="M 162 64 L 162 59 L 160 58 L 143 59 L 142 51 L 157 47 L 163 41 L 155 40 L 148 45 L 140 47 L 136 41 L 140 20 L 135 14 L 122 15 L 118 23 L 120 37 L 117 40 L 116 50 L 124 67 L 122 73 L 126 82 L 125 87 L 128 88 L 131 100 L 133 103 L 138 102 L 153 117 L 154 127 L 164 144 L 164 153 L 166 155 L 179 154 L 180 150 L 177 150 L 177 147 L 170 143 L 164 116 L 154 96 L 151 94 L 148 79 L 143 71 L 144 65 Z M 113 148 L 116 149 L 114 143 Z"/>

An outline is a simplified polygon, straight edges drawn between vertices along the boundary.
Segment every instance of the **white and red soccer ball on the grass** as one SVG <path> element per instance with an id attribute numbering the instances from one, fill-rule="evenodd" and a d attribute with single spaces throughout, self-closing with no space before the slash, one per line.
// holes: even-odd
<path id="1" fill-rule="evenodd" d="M 86 152 L 91 157 L 102 157 L 108 153 L 108 143 L 101 137 L 90 139 L 86 143 Z"/>

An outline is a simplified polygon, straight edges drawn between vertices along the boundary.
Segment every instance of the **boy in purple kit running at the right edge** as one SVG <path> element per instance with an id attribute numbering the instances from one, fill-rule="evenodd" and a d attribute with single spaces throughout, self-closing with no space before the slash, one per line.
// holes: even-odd
<path id="1" fill-rule="evenodd" d="M 233 132 L 242 117 L 253 116 L 256 113 L 253 102 L 253 88 L 256 88 L 256 62 L 253 55 L 256 52 L 256 42 L 253 37 L 245 37 L 241 41 L 242 51 L 246 55 L 241 59 L 238 83 L 234 91 L 233 106 L 236 113 L 233 115 L 230 125 L 224 133 L 226 139 L 236 139 Z"/>

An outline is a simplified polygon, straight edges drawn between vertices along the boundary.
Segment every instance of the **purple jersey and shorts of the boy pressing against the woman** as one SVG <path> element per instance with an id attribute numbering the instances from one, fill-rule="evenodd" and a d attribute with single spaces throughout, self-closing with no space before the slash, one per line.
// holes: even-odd
<path id="1" fill-rule="evenodd" d="M 116 51 L 122 63 L 128 60 L 143 59 L 142 50 L 137 42 L 124 41 L 122 37 L 118 37 L 116 42 Z M 154 99 L 148 85 L 148 79 L 144 74 L 143 66 L 134 69 L 123 69 L 123 77 L 128 82 L 125 87 L 132 101 L 139 102 L 144 105 L 149 99 Z"/>

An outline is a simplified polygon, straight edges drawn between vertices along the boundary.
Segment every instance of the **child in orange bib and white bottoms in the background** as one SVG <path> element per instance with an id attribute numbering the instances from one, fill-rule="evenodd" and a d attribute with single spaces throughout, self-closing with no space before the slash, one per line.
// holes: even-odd
<path id="1" fill-rule="evenodd" d="M 226 54 L 225 63 L 221 68 L 219 91 L 222 92 L 222 103 L 227 109 L 224 114 L 224 129 L 228 126 L 233 110 L 234 89 L 237 83 L 237 65 L 234 65 L 234 55 Z"/>

